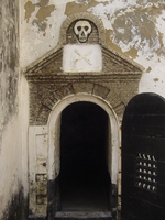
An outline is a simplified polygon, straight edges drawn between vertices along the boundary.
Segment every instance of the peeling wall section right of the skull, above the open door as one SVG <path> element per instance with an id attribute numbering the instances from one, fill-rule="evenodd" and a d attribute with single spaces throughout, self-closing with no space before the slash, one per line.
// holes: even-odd
<path id="1" fill-rule="evenodd" d="M 106 42 L 111 48 L 145 67 L 140 92 L 153 91 L 165 96 L 165 2 L 116 0 L 88 11 L 103 21 Z M 160 78 L 156 85 L 153 78 Z"/>

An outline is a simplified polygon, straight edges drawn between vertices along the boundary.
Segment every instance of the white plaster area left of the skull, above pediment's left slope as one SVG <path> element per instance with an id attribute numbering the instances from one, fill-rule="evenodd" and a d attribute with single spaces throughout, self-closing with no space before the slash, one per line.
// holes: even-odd
<path id="1" fill-rule="evenodd" d="M 65 7 L 67 0 L 50 0 L 48 6 L 54 6 L 55 10 L 46 18 L 45 22 L 47 28 L 41 31 L 40 26 L 34 22 L 40 7 L 35 6 L 35 11 L 31 13 L 30 19 L 25 19 L 25 3 L 28 0 L 21 1 L 21 65 L 25 67 L 32 62 L 40 58 L 46 52 L 54 48 L 59 41 L 59 30 L 62 23 L 65 21 L 66 15 Z M 32 0 L 33 4 L 37 4 L 40 0 Z M 41 22 L 41 23 L 42 23 Z"/>

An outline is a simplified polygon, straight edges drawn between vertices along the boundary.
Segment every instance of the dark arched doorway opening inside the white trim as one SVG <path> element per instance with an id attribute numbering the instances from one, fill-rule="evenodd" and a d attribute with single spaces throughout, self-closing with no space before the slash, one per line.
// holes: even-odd
<path id="1" fill-rule="evenodd" d="M 76 102 L 62 112 L 62 211 L 109 210 L 107 165 L 108 114 L 91 102 Z"/>

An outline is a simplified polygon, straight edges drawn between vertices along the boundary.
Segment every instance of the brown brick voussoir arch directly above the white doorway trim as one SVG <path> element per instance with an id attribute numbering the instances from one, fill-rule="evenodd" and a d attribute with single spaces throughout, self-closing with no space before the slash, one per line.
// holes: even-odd
<path id="1" fill-rule="evenodd" d="M 50 113 L 54 106 L 64 98 L 77 94 L 87 94 L 100 97 L 111 106 L 120 119 L 122 118 L 125 103 L 118 92 L 99 84 L 81 81 L 59 86 L 55 89 L 43 87 L 43 90 L 38 91 L 37 97 L 34 97 L 35 100 L 40 100 L 40 103 L 37 103 L 37 101 L 35 103 L 35 111 L 33 111 L 34 106 L 30 108 L 30 123 L 35 125 L 47 124 Z"/>

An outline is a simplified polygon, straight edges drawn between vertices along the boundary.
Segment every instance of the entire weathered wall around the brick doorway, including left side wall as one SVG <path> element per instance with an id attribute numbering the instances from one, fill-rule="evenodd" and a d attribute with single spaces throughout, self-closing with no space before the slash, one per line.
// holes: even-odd
<path id="1" fill-rule="evenodd" d="M 59 45 L 61 28 L 68 16 L 88 12 L 103 23 L 110 50 L 144 67 L 138 92 L 165 97 L 165 2 L 2 0 L 0 10 L 0 219 L 9 215 L 14 219 L 29 193 L 30 105 L 24 69 Z"/>

